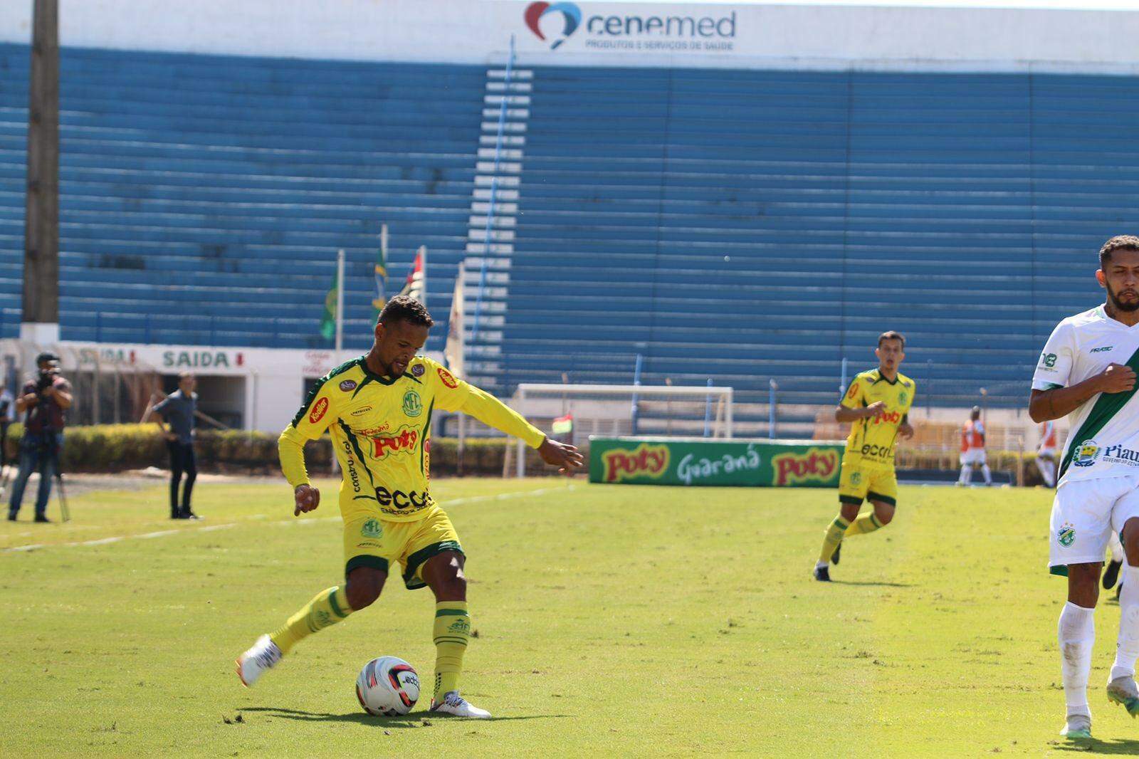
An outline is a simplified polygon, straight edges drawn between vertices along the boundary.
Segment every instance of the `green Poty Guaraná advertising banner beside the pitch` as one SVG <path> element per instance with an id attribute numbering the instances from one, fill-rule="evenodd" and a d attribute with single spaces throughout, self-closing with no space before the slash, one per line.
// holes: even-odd
<path id="1" fill-rule="evenodd" d="M 834 488 L 843 443 L 590 438 L 589 481 L 623 484 Z"/>

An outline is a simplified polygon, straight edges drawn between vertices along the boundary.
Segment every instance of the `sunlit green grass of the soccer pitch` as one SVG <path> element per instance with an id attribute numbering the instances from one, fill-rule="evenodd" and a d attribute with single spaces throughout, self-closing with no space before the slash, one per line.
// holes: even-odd
<path id="1" fill-rule="evenodd" d="M 172 527 L 155 487 L 75 495 L 67 525 L 0 523 L 0 546 L 49 544 L 0 553 L 0 754 L 1072 750 L 1056 736 L 1064 583 L 1044 568 L 1047 491 L 902 488 L 894 523 L 850 540 L 831 585 L 809 571 L 834 491 L 442 480 L 433 492 L 476 499 L 449 508 L 478 632 L 464 693 L 498 719 L 360 711 L 353 683 L 372 656 L 431 678 L 433 601 L 395 581 L 240 687 L 233 658 L 338 582 L 335 506 L 294 520 L 286 485 L 204 484 L 208 521 Z M 1118 610 L 1101 603 L 1098 618 L 1091 748 L 1139 752 L 1139 723 L 1103 694 Z"/>

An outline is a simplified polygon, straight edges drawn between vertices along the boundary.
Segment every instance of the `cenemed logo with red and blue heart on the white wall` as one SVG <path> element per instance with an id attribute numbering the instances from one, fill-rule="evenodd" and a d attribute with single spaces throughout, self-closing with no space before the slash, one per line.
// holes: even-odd
<path id="1" fill-rule="evenodd" d="M 549 14 L 560 14 L 562 35 L 550 49 L 556 50 L 570 35 L 584 28 L 587 48 L 607 50 L 704 50 L 726 52 L 734 48 L 736 11 L 727 16 L 657 16 L 593 14 L 584 16 L 573 2 L 532 2 L 524 17 L 530 31 L 542 41 L 542 19 Z M 551 23 L 547 22 L 549 31 Z"/>

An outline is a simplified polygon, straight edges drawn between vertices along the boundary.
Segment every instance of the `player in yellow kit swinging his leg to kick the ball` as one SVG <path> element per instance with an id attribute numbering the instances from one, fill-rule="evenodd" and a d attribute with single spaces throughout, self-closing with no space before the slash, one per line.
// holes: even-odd
<path id="1" fill-rule="evenodd" d="M 304 443 L 325 430 L 333 439 L 343 473 L 345 582 L 317 594 L 238 658 L 237 674 L 245 685 L 253 685 L 302 638 L 370 605 L 399 563 L 409 589 L 426 586 L 435 594 L 432 711 L 490 717 L 459 695 L 470 631 L 465 554 L 451 520 L 428 492 L 432 414 L 436 408 L 469 414 L 521 438 L 564 474 L 580 467 L 582 456 L 440 364 L 416 356 L 433 324 L 418 301 L 393 297 L 379 315 L 368 354 L 323 376 L 281 433 L 281 470 L 294 489 L 294 514 L 320 504 L 320 491 L 304 468 Z"/>

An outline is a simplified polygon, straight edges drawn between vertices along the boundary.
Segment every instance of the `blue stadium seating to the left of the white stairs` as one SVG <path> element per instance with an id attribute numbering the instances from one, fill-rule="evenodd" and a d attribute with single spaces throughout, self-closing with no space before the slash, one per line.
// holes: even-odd
<path id="1" fill-rule="evenodd" d="M 0 44 L 2 336 L 18 330 L 27 65 Z M 327 348 L 344 248 L 345 343 L 362 349 L 384 222 L 390 293 L 427 245 L 431 299 L 449 304 L 483 67 L 88 49 L 60 66 L 65 340 Z"/>

